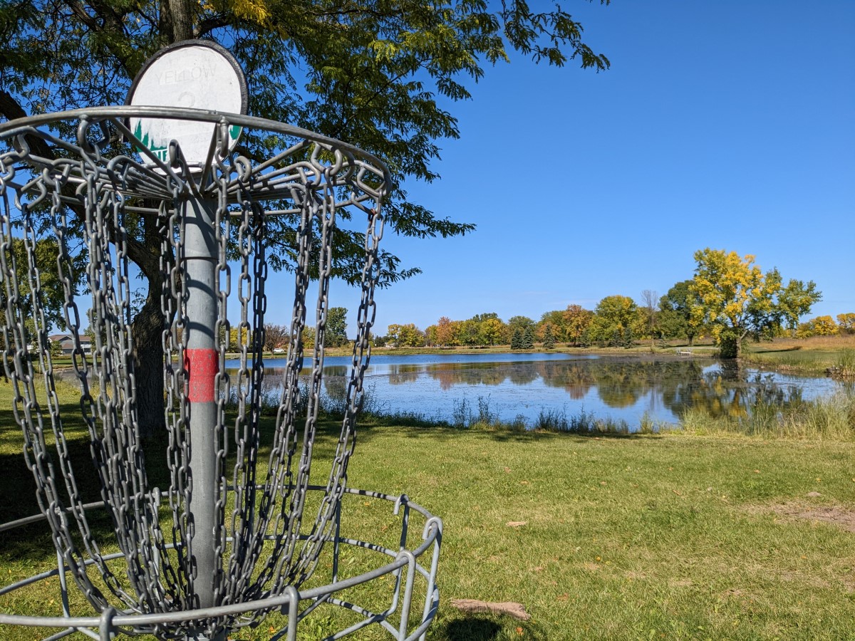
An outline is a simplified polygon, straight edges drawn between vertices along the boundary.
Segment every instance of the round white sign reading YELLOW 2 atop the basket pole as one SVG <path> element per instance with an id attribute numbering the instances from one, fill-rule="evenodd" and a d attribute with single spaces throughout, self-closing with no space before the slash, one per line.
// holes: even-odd
<path id="1" fill-rule="evenodd" d="M 188 107 L 230 114 L 246 113 L 246 80 L 238 62 L 221 47 L 203 40 L 175 44 L 152 57 L 134 79 L 127 104 Z M 169 142 L 175 140 L 191 166 L 208 157 L 217 125 L 213 122 L 130 118 L 128 128 L 161 162 L 168 162 Z M 229 150 L 240 136 L 228 129 Z M 143 156 L 144 161 L 150 158 Z M 154 164 L 154 162 L 148 162 Z"/>

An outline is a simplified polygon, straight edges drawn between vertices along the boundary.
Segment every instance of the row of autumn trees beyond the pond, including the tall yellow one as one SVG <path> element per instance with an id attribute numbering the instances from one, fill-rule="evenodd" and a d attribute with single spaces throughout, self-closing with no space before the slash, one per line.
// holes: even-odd
<path id="1" fill-rule="evenodd" d="M 375 345 L 398 347 L 483 347 L 508 345 L 530 350 L 535 342 L 544 349 L 557 344 L 573 347 L 630 347 L 640 340 L 711 337 L 722 356 L 740 356 L 746 338 L 808 337 L 855 332 L 855 314 L 840 314 L 837 322 L 819 316 L 800 322 L 822 298 L 813 281 L 790 279 L 784 284 L 776 268 L 763 272 L 754 256 L 726 250 L 695 252 L 692 279 L 675 283 L 662 297 L 641 292 L 632 297 L 604 297 L 595 309 L 569 305 L 545 312 L 540 321 L 513 316 L 502 321 L 497 314 L 478 314 L 465 321 L 442 316 L 424 330 L 413 323 L 390 325 Z"/>

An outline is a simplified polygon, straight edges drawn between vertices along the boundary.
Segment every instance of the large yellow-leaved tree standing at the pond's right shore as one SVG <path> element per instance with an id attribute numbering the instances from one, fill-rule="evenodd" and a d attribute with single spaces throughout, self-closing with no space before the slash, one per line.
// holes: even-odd
<path id="1" fill-rule="evenodd" d="M 777 269 L 763 273 L 750 254 L 707 247 L 694 259 L 692 318 L 710 327 L 723 358 L 739 358 L 748 336 L 770 338 L 784 326 L 798 326 L 799 317 L 822 298 L 812 280 L 791 279 L 784 287 Z"/>

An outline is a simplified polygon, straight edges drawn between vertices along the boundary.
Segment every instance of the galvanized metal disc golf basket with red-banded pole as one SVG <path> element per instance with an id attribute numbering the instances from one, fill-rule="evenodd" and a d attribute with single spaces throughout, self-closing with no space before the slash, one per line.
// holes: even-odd
<path id="1" fill-rule="evenodd" d="M 245 109 L 245 92 L 241 100 Z M 268 156 L 249 153 L 239 138 Z M 57 560 L 0 588 L 0 599 L 44 579 L 60 583 L 56 612 L 25 616 L 3 608 L 0 624 L 58 628 L 47 631 L 51 639 L 224 640 L 244 638 L 241 628 L 272 614 L 265 621 L 275 624 L 270 638 L 296 639 L 300 623 L 329 604 L 348 610 L 337 619 L 344 622 L 301 638 L 341 638 L 366 626 L 398 639 L 424 637 L 439 603 L 441 521 L 406 496 L 346 485 L 370 356 L 388 182 L 384 165 L 351 145 L 223 111 L 130 100 L 0 125 L 4 362 L 41 509 L 0 532 L 46 522 Z M 319 462 L 333 237 L 342 217 L 365 221 L 362 300 L 338 443 Z M 144 226 L 156 226 L 160 238 L 159 247 L 142 249 L 152 262 L 150 291 L 160 292 L 162 371 L 134 364 L 141 346 L 131 324 L 131 258 L 139 255 Z M 281 394 L 275 420 L 265 422 L 262 383 L 271 377 L 262 351 L 274 228 L 278 238 L 290 233 L 294 289 Z M 80 252 L 86 260 L 79 288 Z M 61 284 L 73 340 L 71 378 L 80 389 L 74 413 L 56 394 L 50 278 Z M 237 332 L 230 331 L 230 303 L 239 311 Z M 91 346 L 80 339 L 85 317 Z M 301 384 L 307 324 L 315 344 Z M 231 372 L 227 352 L 238 354 Z M 140 396 L 140 381 L 152 376 L 162 376 L 164 390 L 165 429 L 154 436 L 162 441 L 156 447 L 144 444 L 139 425 L 141 407 L 150 403 Z M 80 429 L 89 441 L 85 460 L 69 446 Z M 154 455 L 162 457 L 156 473 Z M 84 468 L 97 476 L 94 503 L 80 489 Z M 383 543 L 360 534 L 369 503 L 398 515 Z M 93 526 L 96 511 L 109 515 L 109 526 Z M 345 558 L 369 569 L 344 576 Z M 416 603 L 421 613 L 411 616 Z"/>

